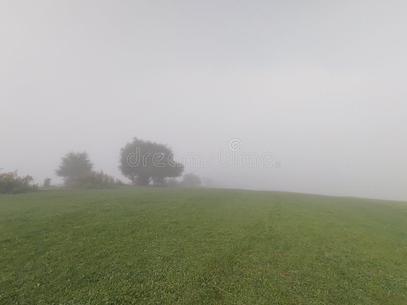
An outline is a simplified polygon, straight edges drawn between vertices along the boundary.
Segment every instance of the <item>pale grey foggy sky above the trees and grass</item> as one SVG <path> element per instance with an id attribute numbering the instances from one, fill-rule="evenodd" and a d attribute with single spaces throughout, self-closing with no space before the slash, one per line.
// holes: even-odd
<path id="1" fill-rule="evenodd" d="M 407 200 L 407 2 L 0 2 L 0 168 L 69 150 L 125 180 L 133 137 L 280 168 L 187 168 L 229 188 Z"/>

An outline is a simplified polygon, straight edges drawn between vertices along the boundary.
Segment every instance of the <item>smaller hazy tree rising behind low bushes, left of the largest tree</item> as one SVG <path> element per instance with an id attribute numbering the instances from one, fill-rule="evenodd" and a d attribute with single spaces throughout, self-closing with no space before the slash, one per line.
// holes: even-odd
<path id="1" fill-rule="evenodd" d="M 70 151 L 61 158 L 61 161 L 60 168 L 55 172 L 58 176 L 63 177 L 67 184 L 93 169 L 93 163 L 89 160 L 86 151 L 78 151 L 77 153 Z"/>

